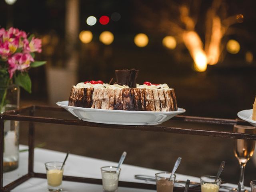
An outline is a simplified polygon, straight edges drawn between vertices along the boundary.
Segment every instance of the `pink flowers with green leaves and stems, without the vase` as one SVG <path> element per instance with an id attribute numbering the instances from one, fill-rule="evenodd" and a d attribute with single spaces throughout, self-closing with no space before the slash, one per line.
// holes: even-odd
<path id="1" fill-rule="evenodd" d="M 35 52 L 42 52 L 41 40 L 17 28 L 0 28 L 0 112 L 5 111 L 8 86 L 16 84 L 31 93 L 28 70 L 45 64 L 35 61 Z M 5 87 L 5 88 L 4 88 Z"/>

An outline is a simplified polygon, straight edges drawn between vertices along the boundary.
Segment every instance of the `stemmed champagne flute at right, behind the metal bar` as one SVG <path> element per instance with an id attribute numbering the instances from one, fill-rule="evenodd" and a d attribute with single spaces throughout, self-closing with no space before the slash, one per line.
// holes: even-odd
<path id="1" fill-rule="evenodd" d="M 256 128 L 252 126 L 234 126 L 234 132 L 236 133 L 246 133 L 246 134 L 256 134 Z M 240 180 L 241 192 L 245 191 L 244 188 L 244 169 L 248 160 L 252 157 L 255 148 L 254 140 L 243 140 L 236 139 L 234 140 L 234 154 L 238 159 L 240 164 Z"/>

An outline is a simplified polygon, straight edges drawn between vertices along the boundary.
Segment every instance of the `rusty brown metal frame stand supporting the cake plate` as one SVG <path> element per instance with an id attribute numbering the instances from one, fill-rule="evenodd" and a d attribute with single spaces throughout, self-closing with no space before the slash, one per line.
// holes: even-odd
<path id="1" fill-rule="evenodd" d="M 7 192 L 18 186 L 19 184 L 25 182 L 30 178 L 46 178 L 46 174 L 35 173 L 34 172 L 34 134 L 35 126 L 34 123 L 51 123 L 51 124 L 65 124 L 74 126 L 87 126 L 87 127 L 98 127 L 98 128 L 114 128 L 114 129 L 129 129 L 129 130 L 140 130 L 140 131 L 153 131 L 153 132 L 166 132 L 166 133 L 177 133 L 177 134 L 192 134 L 200 136 L 212 136 L 221 138 L 233 138 L 233 139 L 248 139 L 256 140 L 256 135 L 254 134 L 244 134 L 244 133 L 234 133 L 226 131 L 215 131 L 215 130 L 195 130 L 187 128 L 178 128 L 171 126 L 127 126 L 127 125 L 113 125 L 113 124 L 97 124 L 91 122 L 85 122 L 82 120 L 68 120 L 61 118 L 48 118 L 34 116 L 37 110 L 48 110 L 48 111 L 60 111 L 65 112 L 63 108 L 53 107 L 53 106 L 27 106 L 20 108 L 18 110 L 10 110 L 4 114 L 0 114 L 0 192 Z M 28 112 L 29 115 L 21 115 L 24 112 Z M 21 178 L 13 181 L 12 183 L 3 186 L 3 150 L 4 150 L 4 120 L 16 120 L 29 122 L 29 132 L 28 132 L 28 174 L 22 176 Z M 194 117 L 194 116 L 176 116 L 172 120 L 177 120 L 181 122 L 190 123 L 204 123 L 204 124 L 217 124 L 217 125 L 248 125 L 247 122 L 239 119 L 221 119 L 221 118 L 206 118 L 206 117 Z M 82 178 L 74 176 L 63 176 L 63 180 L 73 181 L 73 182 L 85 182 L 92 184 L 101 184 L 100 179 L 93 178 Z M 130 187 L 130 188 L 143 188 L 155 190 L 156 186 L 152 184 L 145 183 L 134 183 L 134 182 L 119 182 L 119 186 Z M 183 191 L 181 188 L 175 188 L 175 191 Z M 190 191 L 198 191 L 196 189 L 190 189 Z"/>

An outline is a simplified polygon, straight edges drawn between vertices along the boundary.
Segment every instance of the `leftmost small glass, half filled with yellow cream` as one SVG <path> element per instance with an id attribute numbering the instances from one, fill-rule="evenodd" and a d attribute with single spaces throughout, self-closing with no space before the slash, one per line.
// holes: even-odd
<path id="1" fill-rule="evenodd" d="M 47 184 L 49 191 L 62 191 L 62 176 L 63 176 L 63 168 L 61 170 L 62 162 L 46 162 L 46 176 L 47 176 Z M 63 166 L 64 167 L 64 166 Z"/>

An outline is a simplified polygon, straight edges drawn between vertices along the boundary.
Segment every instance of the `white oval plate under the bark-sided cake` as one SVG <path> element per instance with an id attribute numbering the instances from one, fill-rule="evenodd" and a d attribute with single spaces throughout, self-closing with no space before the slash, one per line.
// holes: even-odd
<path id="1" fill-rule="evenodd" d="M 182 108 L 168 112 L 92 109 L 68 106 L 68 101 L 56 104 L 83 121 L 118 125 L 158 125 L 186 111 Z"/>

